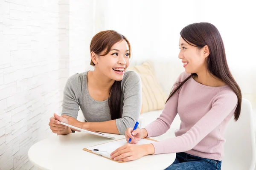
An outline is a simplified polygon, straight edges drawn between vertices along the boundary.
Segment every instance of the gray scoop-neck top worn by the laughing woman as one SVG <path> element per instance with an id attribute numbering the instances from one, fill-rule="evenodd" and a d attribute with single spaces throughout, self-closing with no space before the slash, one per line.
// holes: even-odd
<path id="1" fill-rule="evenodd" d="M 77 119 L 79 106 L 86 122 L 104 122 L 111 120 L 108 99 L 94 100 L 88 92 L 88 71 L 71 76 L 65 85 L 61 115 Z M 134 127 L 138 121 L 142 105 L 140 76 L 134 71 L 126 71 L 121 83 L 121 113 L 116 119 L 116 127 L 121 135 L 128 127 Z"/>

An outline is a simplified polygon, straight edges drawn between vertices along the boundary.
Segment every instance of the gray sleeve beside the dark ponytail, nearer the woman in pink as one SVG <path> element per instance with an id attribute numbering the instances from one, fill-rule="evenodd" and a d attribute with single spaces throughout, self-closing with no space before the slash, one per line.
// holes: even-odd
<path id="1" fill-rule="evenodd" d="M 134 71 L 127 71 L 122 80 L 124 96 L 122 118 L 116 119 L 116 127 L 121 135 L 128 127 L 134 127 L 138 121 L 142 105 L 142 84 L 140 76 Z"/>

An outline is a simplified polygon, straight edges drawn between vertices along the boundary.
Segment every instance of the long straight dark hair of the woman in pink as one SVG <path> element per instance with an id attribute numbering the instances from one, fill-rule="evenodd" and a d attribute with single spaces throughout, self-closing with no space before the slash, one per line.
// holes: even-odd
<path id="1" fill-rule="evenodd" d="M 203 48 L 205 45 L 208 46 L 209 56 L 207 57 L 207 70 L 212 76 L 221 79 L 229 85 L 229 87 L 236 93 L 238 104 L 234 114 L 234 119 L 237 121 L 241 112 L 241 90 L 227 65 L 225 48 L 218 29 L 210 23 L 193 23 L 183 28 L 180 31 L 180 36 L 187 43 L 197 47 L 198 49 Z M 178 82 L 179 85 L 171 91 L 167 101 L 188 79 L 194 75 L 197 74 L 193 73 L 183 82 Z"/>

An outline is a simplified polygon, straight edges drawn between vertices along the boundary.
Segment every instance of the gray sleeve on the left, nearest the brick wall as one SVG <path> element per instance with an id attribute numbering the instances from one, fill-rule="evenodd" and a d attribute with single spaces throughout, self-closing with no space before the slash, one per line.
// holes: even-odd
<path id="1" fill-rule="evenodd" d="M 79 111 L 79 96 L 81 94 L 81 75 L 74 74 L 65 85 L 61 115 L 77 118 Z"/>

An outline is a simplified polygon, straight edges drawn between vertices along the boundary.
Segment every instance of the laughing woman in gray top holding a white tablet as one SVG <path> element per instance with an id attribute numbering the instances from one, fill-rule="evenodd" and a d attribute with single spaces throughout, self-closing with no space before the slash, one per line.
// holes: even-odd
<path id="1" fill-rule="evenodd" d="M 129 41 L 116 31 L 101 31 L 90 43 L 93 71 L 71 76 L 64 88 L 61 116 L 50 118 L 53 133 L 68 134 L 74 129 L 61 122 L 105 133 L 125 134 L 139 119 L 142 105 L 141 80 L 130 64 Z M 79 106 L 85 122 L 79 122 Z"/>

